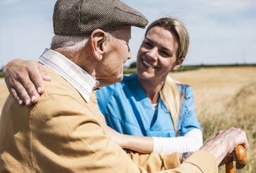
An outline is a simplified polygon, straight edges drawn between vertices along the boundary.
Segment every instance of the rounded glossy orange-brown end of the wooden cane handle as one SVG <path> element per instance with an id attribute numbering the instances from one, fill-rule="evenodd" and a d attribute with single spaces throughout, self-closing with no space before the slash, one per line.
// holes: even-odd
<path id="1" fill-rule="evenodd" d="M 236 146 L 236 169 L 242 169 L 247 163 L 246 151 L 242 145 Z"/>

